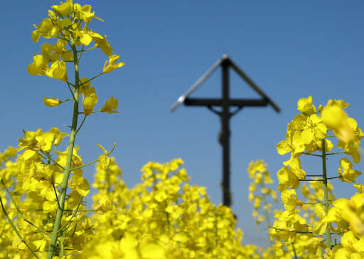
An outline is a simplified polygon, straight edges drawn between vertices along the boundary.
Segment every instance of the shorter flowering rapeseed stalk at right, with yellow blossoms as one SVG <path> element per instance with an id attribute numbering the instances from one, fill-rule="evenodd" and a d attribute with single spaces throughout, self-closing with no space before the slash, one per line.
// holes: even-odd
<path id="1" fill-rule="evenodd" d="M 360 139 L 364 134 L 356 121 L 349 118 L 343 111 L 347 106 L 345 101 L 329 100 L 326 107 L 319 106 L 318 114 L 316 107 L 312 104 L 312 97 L 300 99 L 298 110 L 301 114 L 295 116 L 288 124 L 286 139 L 277 145 L 279 154 L 291 153 L 291 158 L 284 162 L 284 167 L 277 173 L 278 189 L 286 211 L 284 216 L 274 222 L 273 228 L 276 235 L 286 242 L 294 243 L 296 233 L 305 234 L 306 245 L 302 247 L 316 256 L 319 256 L 319 247 L 326 248 L 326 258 L 331 256 L 336 258 L 334 253 L 339 246 L 333 238 L 335 236 L 340 238 L 343 233 L 350 230 L 350 226 L 344 223 L 338 214 L 332 216 L 335 212 L 331 211 L 341 199 L 333 199 L 330 180 L 338 179 L 342 182 L 355 183 L 356 177 L 361 175 L 361 172 L 353 170 L 353 164 L 348 158 L 341 158 L 338 175 L 328 172 L 326 165 L 328 158 L 332 155 L 346 154 L 351 156 L 353 162 L 360 161 Z M 330 135 L 330 132 L 334 135 Z M 337 147 L 342 149 L 338 152 L 331 151 L 333 143 L 329 138 L 335 137 L 338 139 Z M 321 158 L 322 172 L 306 174 L 301 168 L 299 157 L 302 154 Z M 309 202 L 299 200 L 296 189 L 299 188 L 300 182 L 320 183 L 321 190 L 317 188 L 318 184 L 314 187 L 315 199 Z M 356 186 L 358 187 L 358 184 Z M 307 191 L 302 191 L 302 194 L 304 197 L 309 197 Z M 299 215 L 301 211 L 299 208 L 307 211 L 310 207 L 314 211 L 314 217 L 306 221 Z"/>

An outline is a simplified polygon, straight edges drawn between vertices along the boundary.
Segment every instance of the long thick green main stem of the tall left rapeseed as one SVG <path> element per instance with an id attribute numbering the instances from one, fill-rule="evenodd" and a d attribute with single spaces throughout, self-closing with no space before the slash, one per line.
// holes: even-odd
<path id="1" fill-rule="evenodd" d="M 65 169 L 63 170 L 63 180 L 60 186 L 60 196 L 58 197 L 60 202 L 60 207 L 58 207 L 57 209 L 57 214 L 55 216 L 55 221 L 53 225 L 53 231 L 52 234 L 50 235 L 50 243 L 48 248 L 47 259 L 51 259 L 53 257 L 53 254 L 55 253 L 57 246 L 58 231 L 60 229 L 60 222 L 62 221 L 63 209 L 65 206 L 65 197 L 68 187 L 68 180 L 70 178 L 73 147 L 75 145 L 75 136 L 77 131 L 78 97 L 79 97 L 78 90 L 80 89 L 80 75 L 78 72 L 78 60 L 77 60 L 77 50 L 75 46 L 75 40 L 71 38 L 71 42 L 72 42 L 72 51 L 74 59 L 73 64 L 75 66 L 75 93 L 74 93 L 75 101 L 73 103 L 73 119 L 70 132 L 70 142 L 68 144 L 67 160 L 65 163 Z"/>

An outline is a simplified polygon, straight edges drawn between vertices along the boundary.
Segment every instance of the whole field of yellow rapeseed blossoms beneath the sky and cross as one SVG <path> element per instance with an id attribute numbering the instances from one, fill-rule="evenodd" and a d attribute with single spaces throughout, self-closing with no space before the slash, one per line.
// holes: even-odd
<path id="1" fill-rule="evenodd" d="M 97 144 L 100 156 L 83 162 L 75 140 L 85 119 L 116 113 L 118 106 L 110 97 L 96 108 L 92 80 L 124 65 L 106 36 L 88 27 L 94 18 L 102 21 L 91 6 L 68 0 L 52 6 L 31 35 L 34 43 L 56 40 L 41 45 L 28 72 L 67 85 L 68 99 L 43 101 L 50 107 L 73 102 L 72 126 L 67 133 L 24 131 L 17 148 L 0 153 L 0 258 L 364 258 L 364 186 L 355 183 L 364 135 L 343 100 L 316 107 L 311 96 L 299 99 L 299 114 L 277 144 L 279 154 L 291 154 L 277 172 L 277 190 L 264 161 L 250 163 L 252 216 L 267 225 L 268 248 L 244 243 L 230 208 L 213 204 L 204 187 L 191 185 L 181 159 L 147 163 L 132 188 L 111 156 L 114 147 Z M 99 74 L 82 77 L 82 56 L 95 48 L 107 60 Z M 321 167 L 306 172 L 303 155 L 319 158 Z M 338 161 L 336 175 L 328 174 L 327 160 Z M 97 192 L 86 209 L 90 183 L 82 169 L 93 164 Z M 349 182 L 356 193 L 336 197 L 331 181 Z M 274 209 L 279 202 L 284 209 Z"/>

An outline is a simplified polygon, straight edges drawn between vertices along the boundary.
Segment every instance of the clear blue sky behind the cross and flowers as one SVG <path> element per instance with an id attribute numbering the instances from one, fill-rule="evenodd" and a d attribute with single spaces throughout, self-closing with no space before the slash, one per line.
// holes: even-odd
<path id="1" fill-rule="evenodd" d="M 76 1 L 74 1 L 76 2 Z M 140 168 L 149 160 L 182 158 L 193 184 L 207 187 L 221 202 L 220 121 L 206 108 L 171 105 L 213 63 L 228 54 L 282 109 L 246 108 L 231 121 L 232 210 L 245 231 L 245 243 L 264 243 L 247 200 L 251 160 L 264 159 L 277 184 L 276 172 L 288 157 L 277 154 L 287 123 L 299 111 L 296 102 L 312 95 L 314 104 L 344 99 L 347 111 L 363 126 L 364 2 L 363 1 L 80 1 L 91 4 L 105 20 L 90 28 L 107 39 L 125 66 L 93 82 L 99 106 L 113 96 L 119 114 L 94 114 L 77 138 L 85 162 L 117 143 L 113 155 L 129 186 L 139 182 Z M 49 108 L 43 97 L 68 98 L 62 82 L 32 77 L 26 71 L 40 43 L 31 40 L 39 24 L 59 1 L 1 1 L 1 150 L 18 145 L 22 129 L 48 131 L 70 125 L 72 106 Z M 81 76 L 102 70 L 106 56 L 100 50 L 85 55 Z M 233 72 L 231 97 L 257 97 Z M 220 97 L 220 70 L 191 97 Z M 312 160 L 312 158 L 310 158 Z M 320 170 L 311 160 L 307 172 Z M 307 162 L 311 167 L 308 167 Z M 332 162 L 330 175 L 337 175 Z M 85 170 L 92 182 L 94 167 Z M 363 163 L 355 165 L 363 170 Z M 363 177 L 358 178 L 363 182 Z M 348 196 L 350 184 L 336 194 Z"/>

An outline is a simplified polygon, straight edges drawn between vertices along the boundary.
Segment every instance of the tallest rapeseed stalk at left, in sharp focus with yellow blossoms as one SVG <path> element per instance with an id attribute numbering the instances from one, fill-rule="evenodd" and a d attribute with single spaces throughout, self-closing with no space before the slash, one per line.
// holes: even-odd
<path id="1" fill-rule="evenodd" d="M 35 26 L 36 31 L 33 31 L 32 33 L 32 38 L 35 43 L 40 37 L 47 39 L 55 38 L 57 39 L 57 42 L 53 45 L 50 43 L 44 43 L 42 45 L 41 55 L 35 55 L 33 57 L 33 63 L 28 65 L 28 72 L 31 75 L 47 75 L 53 79 L 60 79 L 60 81 L 63 81 L 68 85 L 68 89 L 72 96 L 70 99 L 64 101 L 58 98 L 44 97 L 43 101 L 45 106 L 59 106 L 65 101 L 73 99 L 73 117 L 70 134 L 68 135 L 70 136 L 68 148 L 65 153 L 55 151 L 58 155 L 62 155 L 63 160 L 60 159 L 60 156 L 57 160 L 51 158 L 50 150 L 55 145 L 59 145 L 61 140 L 55 139 L 54 134 L 48 137 L 49 134 L 43 136 L 45 134 L 41 135 L 42 131 L 37 131 L 36 133 L 28 133 L 28 135 L 26 133 L 26 137 L 20 140 L 21 147 L 26 149 L 26 152 L 24 153 L 26 158 L 33 158 L 34 154 L 38 154 L 41 158 L 46 159 L 48 164 L 52 161 L 54 165 L 58 166 L 58 170 L 59 168 L 63 170 L 62 181 L 57 187 L 55 186 L 54 177 L 51 178 L 53 179 L 51 180 L 51 186 L 53 186 L 55 194 L 57 211 L 55 213 L 53 230 L 50 234 L 47 254 L 48 259 L 53 258 L 53 255 L 65 255 L 65 238 L 67 237 L 67 231 L 65 231 L 62 226 L 62 219 L 65 211 L 70 211 L 68 208 L 65 208 L 65 204 L 68 199 L 67 192 L 68 188 L 70 188 L 71 172 L 73 172 L 72 177 L 74 178 L 72 183 L 73 191 L 75 191 L 75 189 L 79 191 L 78 194 L 73 195 L 79 195 L 81 197 L 81 202 L 82 197 L 88 193 L 89 187 L 88 182 L 80 175 L 82 174 L 80 169 L 97 161 L 107 164 L 107 161 L 109 161 L 109 154 L 112 152 L 107 152 L 105 148 L 102 148 L 102 146 L 99 145 L 102 150 L 104 150 L 104 154 L 100 155 L 99 159 L 85 165 L 82 164 L 80 157 L 75 155 L 75 138 L 85 122 L 86 117 L 95 112 L 107 112 L 108 114 L 118 112 L 118 101 L 114 97 L 105 101 L 105 106 L 101 109 L 95 110 L 98 98 L 95 87 L 91 86 L 91 81 L 100 75 L 112 72 L 112 70 L 124 65 L 124 62 L 117 63 L 119 55 L 112 54 L 113 50 L 107 41 L 106 36 L 95 33 L 89 28 L 88 25 L 90 21 L 92 21 L 92 18 L 97 18 L 97 16 L 95 16 L 95 12 L 91 12 L 90 5 L 81 6 L 80 4 L 73 4 L 72 0 L 68 0 L 65 3 L 61 2 L 60 5 L 52 6 L 52 10 L 48 11 L 48 18 L 43 19 L 40 25 Z M 102 21 L 100 18 L 97 19 Z M 92 42 L 95 44 L 93 47 L 85 48 L 85 46 L 90 45 Z M 67 46 L 70 47 L 70 49 L 67 49 Z M 83 53 L 95 48 L 100 48 L 108 57 L 104 66 L 100 67 L 102 72 L 91 77 L 91 79 L 80 77 L 79 65 Z M 66 63 L 73 63 L 75 74 L 74 83 L 68 81 Z M 82 99 L 80 98 L 81 95 Z M 83 111 L 79 111 L 80 104 L 82 104 Z M 77 128 L 78 116 L 80 114 L 83 114 L 84 118 Z M 35 139 L 33 139 L 34 137 Z M 43 142 L 41 142 L 39 138 L 41 138 Z M 113 149 L 114 148 L 112 148 L 112 150 Z M 60 162 L 60 160 L 63 162 Z M 60 178 L 58 177 L 58 179 Z M 78 206 L 80 206 L 80 202 L 78 202 Z M 49 204 L 49 202 L 46 204 L 47 206 L 44 206 L 43 204 L 43 209 L 47 208 L 51 211 L 53 205 Z M 58 243 L 60 236 L 62 236 L 62 238 L 60 239 L 60 243 Z"/>

